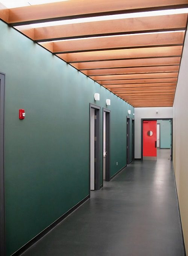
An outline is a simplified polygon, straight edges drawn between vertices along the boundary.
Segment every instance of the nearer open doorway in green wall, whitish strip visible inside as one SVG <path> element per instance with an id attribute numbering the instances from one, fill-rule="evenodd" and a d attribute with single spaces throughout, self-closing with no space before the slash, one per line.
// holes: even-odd
<path id="1" fill-rule="evenodd" d="M 90 104 L 90 190 L 100 189 L 100 107 Z"/>

